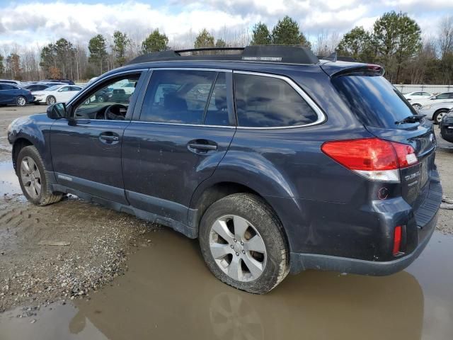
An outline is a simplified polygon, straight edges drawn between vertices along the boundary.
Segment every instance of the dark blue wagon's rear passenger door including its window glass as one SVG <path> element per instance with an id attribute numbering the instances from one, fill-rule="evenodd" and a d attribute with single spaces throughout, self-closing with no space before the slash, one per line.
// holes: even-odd
<path id="1" fill-rule="evenodd" d="M 187 222 L 195 188 L 212 175 L 236 131 L 231 83 L 231 72 L 224 71 L 152 72 L 122 146 L 125 189 L 134 207 Z"/>

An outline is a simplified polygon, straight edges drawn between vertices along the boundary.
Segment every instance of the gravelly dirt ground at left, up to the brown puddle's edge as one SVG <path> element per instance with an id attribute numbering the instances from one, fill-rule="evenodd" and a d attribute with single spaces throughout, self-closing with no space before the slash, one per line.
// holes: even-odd
<path id="1" fill-rule="evenodd" d="M 21 195 L 11 167 L 6 129 L 14 118 L 45 106 L 0 109 L 0 312 L 89 295 L 124 273 L 127 254 L 149 246 L 156 227 L 142 220 L 65 198 L 50 207 Z M 46 245 L 46 244 L 67 245 Z"/>

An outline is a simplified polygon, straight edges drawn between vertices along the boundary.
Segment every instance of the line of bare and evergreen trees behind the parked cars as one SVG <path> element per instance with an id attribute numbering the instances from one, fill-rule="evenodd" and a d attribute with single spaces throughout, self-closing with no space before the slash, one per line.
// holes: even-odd
<path id="1" fill-rule="evenodd" d="M 303 45 L 316 55 L 332 52 L 352 57 L 359 62 L 381 64 L 385 77 L 396 84 L 453 83 L 453 16 L 445 16 L 435 37 L 423 36 L 418 23 L 406 13 L 384 13 L 371 30 L 352 28 L 340 36 L 335 31 L 321 32 L 310 42 L 294 18 L 285 16 L 269 28 L 256 23 L 250 34 L 239 39 L 215 38 L 201 30 L 192 42 L 170 46 L 167 35 L 152 30 L 142 40 L 132 39 L 124 32 L 95 35 L 88 44 L 60 38 L 39 50 L 0 53 L 0 77 L 18 80 L 90 79 L 124 65 L 137 55 L 181 47 L 239 47 L 243 45 Z M 215 53 L 215 52 L 212 52 Z"/>

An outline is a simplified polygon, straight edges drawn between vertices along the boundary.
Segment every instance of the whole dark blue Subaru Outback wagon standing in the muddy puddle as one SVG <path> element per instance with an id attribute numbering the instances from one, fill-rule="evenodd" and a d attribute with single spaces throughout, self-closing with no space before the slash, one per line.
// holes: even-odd
<path id="1" fill-rule="evenodd" d="M 420 254 L 442 198 L 435 135 L 382 67 L 304 47 L 185 52 L 137 57 L 11 123 L 26 198 L 71 193 L 167 225 L 251 293 L 310 268 L 386 275 Z"/>

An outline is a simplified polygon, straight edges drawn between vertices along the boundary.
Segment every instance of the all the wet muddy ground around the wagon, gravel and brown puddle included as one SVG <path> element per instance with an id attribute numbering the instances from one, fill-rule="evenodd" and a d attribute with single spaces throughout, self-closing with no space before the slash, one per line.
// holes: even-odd
<path id="1" fill-rule="evenodd" d="M 453 339 L 453 210 L 406 271 L 309 271 L 250 295 L 219 283 L 176 232 L 76 198 L 27 203 L 6 127 L 39 111 L 0 108 L 0 339 Z M 439 144 L 453 198 L 453 145 Z"/>

